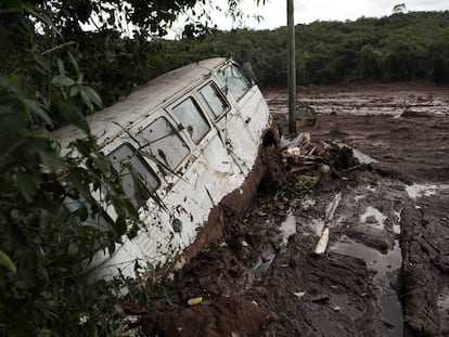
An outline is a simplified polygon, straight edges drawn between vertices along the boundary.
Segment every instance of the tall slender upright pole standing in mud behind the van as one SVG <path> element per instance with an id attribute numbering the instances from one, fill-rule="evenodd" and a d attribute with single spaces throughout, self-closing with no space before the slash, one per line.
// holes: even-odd
<path id="1" fill-rule="evenodd" d="M 296 61 L 295 61 L 295 20 L 293 0 L 287 0 L 287 79 L 288 79 L 288 132 L 296 133 Z"/>

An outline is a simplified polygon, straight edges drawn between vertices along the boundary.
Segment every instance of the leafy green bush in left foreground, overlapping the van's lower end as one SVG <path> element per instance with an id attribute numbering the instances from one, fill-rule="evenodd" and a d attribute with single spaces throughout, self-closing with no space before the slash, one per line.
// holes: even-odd
<path id="1" fill-rule="evenodd" d="M 99 243 L 114 247 L 127 230 L 114 223 L 106 230 L 82 223 L 88 215 L 101 212 L 90 197 L 92 186 L 106 189 L 105 203 L 131 226 L 138 224 L 138 215 L 123 198 L 120 181 L 108 171 L 108 160 L 91 137 L 73 144 L 80 157 L 60 155 L 43 127 L 52 124 L 51 115 L 61 113 L 87 134 L 89 128 L 78 107 L 82 103 L 64 98 L 65 82 L 49 82 L 52 104 L 46 105 L 48 95 L 42 103 L 27 99 L 20 77 L 3 76 L 1 81 L 0 249 L 7 269 L 0 271 L 0 330 L 10 336 L 112 335 L 119 321 L 110 322 L 117 314 L 102 299 L 115 286 L 88 284 L 82 265 Z M 88 91 L 88 100 L 97 99 Z M 79 200 L 78 208 L 69 211 L 67 198 Z M 90 319 L 79 324 L 85 315 Z"/>

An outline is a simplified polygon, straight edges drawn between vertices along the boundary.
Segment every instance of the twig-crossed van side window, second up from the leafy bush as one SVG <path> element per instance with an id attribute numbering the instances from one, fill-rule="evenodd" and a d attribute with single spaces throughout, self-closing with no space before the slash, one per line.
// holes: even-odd
<path id="1" fill-rule="evenodd" d="M 139 132 L 143 151 L 150 152 L 159 164 L 175 170 L 189 155 L 189 146 L 165 117 L 159 117 Z"/>

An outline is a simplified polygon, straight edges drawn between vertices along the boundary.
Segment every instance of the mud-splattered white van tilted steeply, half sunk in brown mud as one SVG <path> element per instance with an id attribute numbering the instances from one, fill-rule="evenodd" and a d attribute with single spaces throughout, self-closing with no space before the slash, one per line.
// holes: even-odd
<path id="1" fill-rule="evenodd" d="M 209 59 L 159 76 L 88 118 L 92 134 L 119 170 L 143 225 L 114 254 L 99 250 L 87 267 L 95 278 L 136 276 L 134 264 L 172 268 L 221 234 L 223 207 L 248 206 L 264 174 L 264 147 L 277 143 L 268 105 L 234 62 Z M 82 138 L 54 134 L 62 148 Z M 157 195 L 157 198 L 154 198 Z M 94 195 L 101 199 L 101 195 Z M 94 225 L 114 221 L 114 210 Z M 179 264 L 178 264 L 179 265 Z"/>

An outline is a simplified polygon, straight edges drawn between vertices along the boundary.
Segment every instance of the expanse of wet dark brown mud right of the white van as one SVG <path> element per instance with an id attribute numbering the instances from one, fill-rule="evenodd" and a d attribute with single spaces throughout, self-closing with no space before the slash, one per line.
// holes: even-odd
<path id="1" fill-rule="evenodd" d="M 266 98 L 286 133 L 285 92 Z M 262 183 L 246 215 L 226 209 L 223 237 L 146 294 L 141 334 L 449 336 L 449 88 L 313 88 L 298 99 L 318 113 L 300 129 L 315 157 Z M 379 161 L 342 160 L 332 142 Z M 320 177 L 312 192 L 304 176 Z"/>

